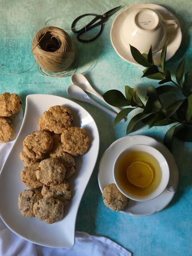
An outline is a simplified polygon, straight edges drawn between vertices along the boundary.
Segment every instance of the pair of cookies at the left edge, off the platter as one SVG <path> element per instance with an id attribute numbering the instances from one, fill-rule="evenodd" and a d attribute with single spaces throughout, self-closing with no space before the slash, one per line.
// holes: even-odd
<path id="1" fill-rule="evenodd" d="M 17 94 L 5 92 L 0 95 L 0 142 L 9 142 L 15 135 L 12 119 L 22 108 Z"/>

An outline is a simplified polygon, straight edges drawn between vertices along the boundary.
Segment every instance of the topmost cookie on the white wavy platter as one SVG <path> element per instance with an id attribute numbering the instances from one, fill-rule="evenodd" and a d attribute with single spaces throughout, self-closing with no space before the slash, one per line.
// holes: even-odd
<path id="1" fill-rule="evenodd" d="M 61 134 L 64 129 L 71 127 L 73 116 L 65 106 L 51 106 L 39 119 L 39 129 L 48 129 L 56 134 Z"/>

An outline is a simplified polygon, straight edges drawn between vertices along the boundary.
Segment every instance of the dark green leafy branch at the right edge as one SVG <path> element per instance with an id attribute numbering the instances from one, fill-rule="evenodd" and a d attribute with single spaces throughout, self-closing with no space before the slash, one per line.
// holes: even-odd
<path id="1" fill-rule="evenodd" d="M 133 46 L 130 46 L 130 49 L 134 60 L 145 67 L 141 78 L 147 77 L 160 80 L 158 84 L 161 86 L 156 89 L 152 85 L 148 86 L 146 104 L 139 98 L 137 90 L 128 85 L 125 86 L 125 96 L 118 90 L 107 91 L 103 95 L 107 103 L 118 107 L 131 106 L 124 108 L 117 114 L 114 125 L 118 124 L 132 110 L 140 108 L 143 111 L 136 114 L 130 120 L 126 134 L 129 134 L 140 121 L 147 122 L 149 129 L 153 126 L 164 126 L 174 123 L 164 137 L 164 143 L 167 147 L 171 149 L 173 135 L 179 137 L 179 139 L 192 141 L 192 83 L 188 81 L 189 72 L 184 74 L 185 58 L 182 59 L 177 67 L 175 73 L 176 81 L 174 81 L 170 71 L 165 66 L 167 43 L 162 49 L 160 65 L 154 64 L 152 47 L 150 47 L 148 53 L 140 53 Z M 178 90 L 181 91 L 182 98 L 172 102 L 169 106 L 164 106 L 159 96 Z"/>

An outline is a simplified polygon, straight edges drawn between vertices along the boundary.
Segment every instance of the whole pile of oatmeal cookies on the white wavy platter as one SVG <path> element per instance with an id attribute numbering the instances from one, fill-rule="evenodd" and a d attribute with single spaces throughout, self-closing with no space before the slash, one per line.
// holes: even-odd
<path id="1" fill-rule="evenodd" d="M 30 188 L 20 193 L 18 206 L 25 217 L 36 217 L 46 223 L 63 218 L 63 208 L 71 199 L 66 181 L 76 164 L 74 156 L 83 155 L 89 146 L 86 131 L 72 127 L 73 116 L 64 106 L 52 106 L 39 119 L 39 131 L 23 141 L 20 159 L 23 184 Z"/>

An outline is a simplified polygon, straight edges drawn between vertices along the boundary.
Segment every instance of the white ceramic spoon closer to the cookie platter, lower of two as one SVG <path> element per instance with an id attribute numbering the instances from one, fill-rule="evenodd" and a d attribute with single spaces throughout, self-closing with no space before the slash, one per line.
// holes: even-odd
<path id="1" fill-rule="evenodd" d="M 80 87 L 71 84 L 67 87 L 67 92 L 68 94 L 73 97 L 74 99 L 78 99 L 80 101 L 84 101 L 84 102 L 88 102 L 94 106 L 97 106 L 98 108 L 102 109 L 103 111 L 105 111 L 106 113 L 110 114 L 112 117 L 116 117 L 116 113 L 112 112 L 109 109 L 106 109 L 104 106 L 101 106 L 99 103 L 97 103 L 96 101 L 94 101 L 93 99 L 91 99 L 85 91 L 83 91 Z M 122 119 L 122 122 L 125 122 L 126 119 Z"/>

